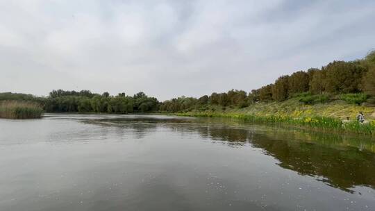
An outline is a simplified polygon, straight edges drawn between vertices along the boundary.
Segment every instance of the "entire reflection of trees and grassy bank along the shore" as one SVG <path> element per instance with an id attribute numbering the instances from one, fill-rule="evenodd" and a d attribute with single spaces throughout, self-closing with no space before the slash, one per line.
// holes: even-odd
<path id="1" fill-rule="evenodd" d="M 301 175 L 317 176 L 333 187 L 348 192 L 357 185 L 375 188 L 375 154 L 372 153 L 375 144 L 371 137 L 267 126 L 251 130 L 243 124 L 233 126 L 206 119 L 103 119 L 99 124 L 131 129 L 138 138 L 160 127 L 182 135 L 194 133 L 228 146 L 251 143 L 279 160 L 279 166 Z"/>

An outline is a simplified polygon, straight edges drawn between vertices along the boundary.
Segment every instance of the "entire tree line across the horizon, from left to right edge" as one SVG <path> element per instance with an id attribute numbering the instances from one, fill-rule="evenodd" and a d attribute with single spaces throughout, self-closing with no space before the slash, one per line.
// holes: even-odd
<path id="1" fill-rule="evenodd" d="M 285 101 L 301 94 L 322 96 L 357 93 L 375 98 L 375 51 L 360 60 L 333 61 L 320 69 L 310 68 L 307 71 L 280 76 L 274 83 L 251 90 L 249 93 L 244 90 L 229 90 L 199 98 L 181 96 L 160 103 L 158 99 L 147 96 L 144 92 L 138 92 L 133 96 L 127 96 L 125 93 L 111 96 L 108 92 L 95 94 L 90 90 L 53 90 L 47 97 L 0 93 L 0 101 L 36 101 L 43 105 L 47 112 L 181 112 L 208 110 L 210 105 L 244 108 L 252 103 Z"/>

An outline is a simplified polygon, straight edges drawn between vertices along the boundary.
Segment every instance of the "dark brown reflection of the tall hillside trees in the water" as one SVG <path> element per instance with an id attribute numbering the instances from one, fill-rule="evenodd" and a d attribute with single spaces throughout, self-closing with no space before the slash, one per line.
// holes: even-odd
<path id="1" fill-rule="evenodd" d="M 288 137 L 287 137 L 288 138 Z M 254 138 L 253 144 L 280 161 L 285 169 L 319 180 L 346 191 L 356 185 L 375 187 L 375 155 L 356 148 L 339 149 L 322 144 Z"/>

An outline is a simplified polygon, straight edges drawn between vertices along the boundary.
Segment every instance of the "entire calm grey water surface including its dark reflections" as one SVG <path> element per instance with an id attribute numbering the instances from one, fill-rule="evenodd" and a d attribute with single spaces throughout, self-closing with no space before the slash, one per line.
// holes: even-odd
<path id="1" fill-rule="evenodd" d="M 0 119 L 0 210 L 375 210 L 375 140 L 228 119 Z"/>

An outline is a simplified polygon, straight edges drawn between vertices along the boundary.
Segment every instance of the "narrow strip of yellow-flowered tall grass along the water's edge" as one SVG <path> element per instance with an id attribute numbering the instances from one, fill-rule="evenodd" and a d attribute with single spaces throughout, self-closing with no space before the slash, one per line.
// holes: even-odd
<path id="1" fill-rule="evenodd" d="M 235 119 L 243 119 L 254 123 L 283 123 L 297 126 L 307 126 L 311 128 L 319 128 L 322 130 L 335 130 L 338 132 L 350 132 L 365 135 L 375 135 L 375 121 L 369 124 L 361 124 L 358 121 L 342 122 L 340 119 L 333 117 L 290 117 L 285 115 L 247 115 L 223 112 L 188 112 L 177 115 L 190 117 L 230 117 Z"/>

